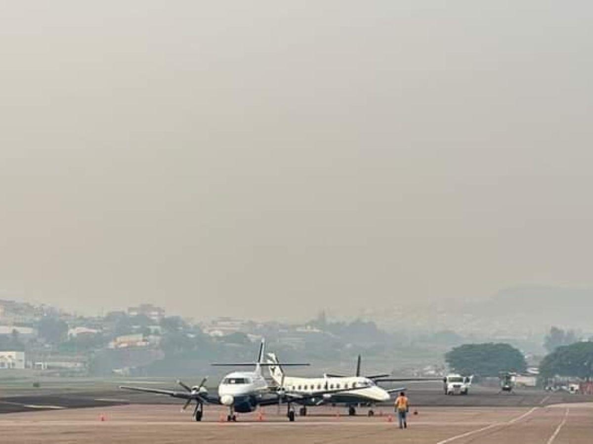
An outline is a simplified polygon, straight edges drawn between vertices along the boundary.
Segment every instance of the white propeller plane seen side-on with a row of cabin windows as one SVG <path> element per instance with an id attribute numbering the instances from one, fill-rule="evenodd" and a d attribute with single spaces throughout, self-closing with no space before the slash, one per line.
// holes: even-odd
<path id="1" fill-rule="evenodd" d="M 306 394 L 307 398 L 295 400 L 301 404 L 299 415 L 307 415 L 307 406 L 321 406 L 323 404 L 345 404 L 348 407 L 349 416 L 356 414 L 356 406 L 369 406 L 368 416 L 375 414 L 372 407 L 377 403 L 387 402 L 391 394 L 406 390 L 405 387 L 385 389 L 379 387 L 377 382 L 419 382 L 419 381 L 441 381 L 433 378 L 390 378 L 390 375 L 361 375 L 361 355 L 358 355 L 356 373 L 353 377 L 342 375 L 324 374 L 323 378 L 299 378 L 288 377 L 283 370 L 283 364 L 278 361 L 275 353 L 268 353 L 268 369 L 270 376 L 277 384 L 289 388 L 295 394 Z M 328 392 L 328 390 L 340 390 L 340 392 Z"/>

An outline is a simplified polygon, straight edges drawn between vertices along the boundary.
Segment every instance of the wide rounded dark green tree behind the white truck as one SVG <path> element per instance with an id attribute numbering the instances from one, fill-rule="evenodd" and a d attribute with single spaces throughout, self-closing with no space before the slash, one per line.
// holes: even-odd
<path id="1" fill-rule="evenodd" d="M 498 376 L 501 371 L 524 371 L 523 354 L 509 344 L 464 344 L 450 350 L 445 361 L 454 371 L 464 375 Z"/>

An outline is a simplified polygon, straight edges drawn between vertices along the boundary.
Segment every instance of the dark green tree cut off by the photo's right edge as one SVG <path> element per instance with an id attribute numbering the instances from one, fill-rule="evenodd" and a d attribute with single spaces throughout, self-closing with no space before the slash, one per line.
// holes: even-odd
<path id="1" fill-rule="evenodd" d="M 541 361 L 540 374 L 544 378 L 593 377 L 593 342 L 562 345 Z"/>

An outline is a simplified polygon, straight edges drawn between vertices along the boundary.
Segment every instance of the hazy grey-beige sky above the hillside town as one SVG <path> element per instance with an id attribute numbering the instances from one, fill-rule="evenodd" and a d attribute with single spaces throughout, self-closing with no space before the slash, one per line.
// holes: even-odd
<path id="1" fill-rule="evenodd" d="M 589 1 L 0 2 L 0 298 L 312 317 L 591 286 Z"/>

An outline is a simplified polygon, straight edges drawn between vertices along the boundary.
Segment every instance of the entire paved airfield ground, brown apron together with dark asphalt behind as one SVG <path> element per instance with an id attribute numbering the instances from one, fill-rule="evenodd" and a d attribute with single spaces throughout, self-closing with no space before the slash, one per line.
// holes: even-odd
<path id="1" fill-rule="evenodd" d="M 227 423 L 221 406 L 205 406 L 203 421 L 195 422 L 191 407 L 181 413 L 179 400 L 158 395 L 119 390 L 11 395 L 0 397 L 0 413 L 8 413 L 0 414 L 0 442 L 593 442 L 591 396 L 538 390 L 509 395 L 477 387 L 467 396 L 447 396 L 436 388 L 408 394 L 412 409 L 404 430 L 388 405 L 375 407 L 374 417 L 366 416 L 365 407 L 354 417 L 343 407 L 314 407 L 293 423 L 286 419 L 286 406 L 279 411 L 272 406 Z"/>

